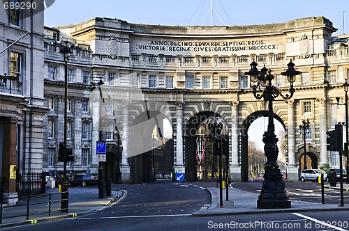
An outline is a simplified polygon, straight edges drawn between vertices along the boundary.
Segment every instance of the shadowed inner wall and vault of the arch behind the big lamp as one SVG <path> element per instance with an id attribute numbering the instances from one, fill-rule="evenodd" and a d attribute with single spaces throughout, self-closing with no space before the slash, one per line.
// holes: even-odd
<path id="1" fill-rule="evenodd" d="M 260 117 L 268 117 L 269 111 L 256 111 L 249 115 L 242 123 L 242 133 L 241 133 L 241 176 L 242 182 L 248 182 L 248 128 L 253 121 Z M 283 128 L 285 129 L 285 124 L 281 118 L 274 113 L 274 119 L 278 120 Z M 260 137 L 262 139 L 262 137 Z"/>

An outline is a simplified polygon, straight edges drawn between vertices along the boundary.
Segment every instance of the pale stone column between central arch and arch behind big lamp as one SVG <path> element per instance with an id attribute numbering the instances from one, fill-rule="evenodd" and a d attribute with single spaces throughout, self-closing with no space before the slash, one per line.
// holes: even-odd
<path id="1" fill-rule="evenodd" d="M 230 178 L 232 181 L 241 180 L 241 166 L 239 165 L 239 102 L 230 102 L 231 105 L 231 121 L 232 121 L 232 130 L 231 130 L 231 146 L 230 146 Z"/>

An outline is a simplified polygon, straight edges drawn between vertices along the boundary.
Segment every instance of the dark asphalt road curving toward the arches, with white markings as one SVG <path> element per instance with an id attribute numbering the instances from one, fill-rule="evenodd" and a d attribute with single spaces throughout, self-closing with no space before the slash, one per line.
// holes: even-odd
<path id="1" fill-rule="evenodd" d="M 306 189 L 306 185 L 313 184 L 315 183 L 299 183 L 299 186 L 304 186 L 302 190 L 311 190 Z M 237 185 L 245 191 L 255 192 L 259 190 L 261 183 L 232 184 Z M 211 196 L 205 189 L 208 186 L 216 186 L 216 183 L 156 182 L 120 185 L 124 195 L 109 207 L 77 218 L 25 225 L 10 230 L 349 230 L 349 211 L 271 211 L 192 216 L 193 212 L 209 207 Z M 297 188 L 292 191 L 297 191 Z"/>

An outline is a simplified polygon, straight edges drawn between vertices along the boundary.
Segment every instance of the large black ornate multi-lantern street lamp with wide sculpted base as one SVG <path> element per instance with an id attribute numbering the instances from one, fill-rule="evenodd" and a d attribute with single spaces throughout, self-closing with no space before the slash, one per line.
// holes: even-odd
<path id="1" fill-rule="evenodd" d="M 290 99 L 293 96 L 293 93 L 295 92 L 293 83 L 296 80 L 296 75 L 302 73 L 295 70 L 294 66 L 295 64 L 290 61 L 290 63 L 288 63 L 288 70 L 281 73 L 282 75 L 287 76 L 287 79 L 290 82 L 290 94 L 285 95 L 283 95 L 278 88 L 272 86 L 274 75 L 271 73 L 271 70 L 267 70 L 266 67 L 263 67 L 262 70 L 259 71 L 255 61 L 251 63 L 251 70 L 244 73 L 250 76 L 251 88 L 255 98 L 263 98 L 265 102 L 268 102 L 269 107 L 268 129 L 263 135 L 262 140 L 265 143 L 264 150 L 265 156 L 267 157 L 267 163 L 265 163 L 265 181 L 263 182 L 262 191 L 257 200 L 257 207 L 259 209 L 291 207 L 291 201 L 285 191 L 285 182 L 282 180 L 279 165 L 276 163 L 279 154 L 279 149 L 277 147 L 279 139 L 276 138 L 275 135 L 273 101 L 279 95 L 283 97 L 283 99 Z"/>

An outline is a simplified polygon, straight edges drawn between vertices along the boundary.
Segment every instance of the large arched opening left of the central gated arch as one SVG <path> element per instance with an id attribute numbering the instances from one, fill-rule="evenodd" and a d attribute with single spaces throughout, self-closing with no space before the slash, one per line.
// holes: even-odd
<path id="1" fill-rule="evenodd" d="M 129 128 L 130 182 L 154 182 L 171 178 L 173 165 L 172 125 L 158 111 L 138 115 Z"/>

